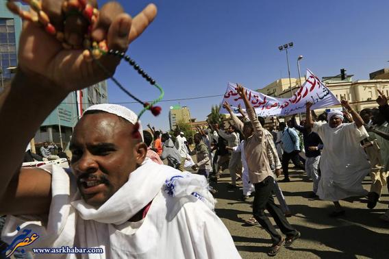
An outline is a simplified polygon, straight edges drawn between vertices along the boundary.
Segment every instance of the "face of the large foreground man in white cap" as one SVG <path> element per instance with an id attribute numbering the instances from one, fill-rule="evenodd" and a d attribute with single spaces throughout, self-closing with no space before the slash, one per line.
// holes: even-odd
<path id="1" fill-rule="evenodd" d="M 101 206 L 145 160 L 147 147 L 132 138 L 134 125 L 114 114 L 86 114 L 71 139 L 71 169 L 87 204 Z M 131 194 L 129 194 L 131 195 Z"/>

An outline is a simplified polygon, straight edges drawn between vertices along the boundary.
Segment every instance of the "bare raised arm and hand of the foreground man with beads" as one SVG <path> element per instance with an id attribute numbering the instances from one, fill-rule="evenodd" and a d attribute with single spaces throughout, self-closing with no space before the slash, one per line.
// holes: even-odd
<path id="1" fill-rule="evenodd" d="M 50 8 L 54 5 L 42 6 L 51 21 L 58 20 L 58 12 Z M 129 42 L 142 34 L 155 15 L 155 5 L 148 5 L 131 19 L 120 4 L 108 2 L 100 10 L 92 37 L 97 41 L 106 38 L 109 49 L 126 51 Z M 87 25 L 66 26 L 65 36 L 73 36 L 73 32 L 77 35 L 86 29 L 83 26 Z M 0 151 L 0 214 L 38 214 L 49 210 L 51 175 L 40 169 L 20 170 L 27 143 L 69 93 L 109 75 L 102 73 L 96 62 L 86 62 L 81 50 L 64 49 L 43 27 L 28 21 L 23 23 L 18 49 L 18 71 L 0 95 L 0 121 L 7 125 L 0 127 L 0 136 L 2 145 L 8 147 Z M 114 73 L 120 59 L 103 56 L 100 62 Z M 21 103 L 29 112 L 20 108 Z"/>

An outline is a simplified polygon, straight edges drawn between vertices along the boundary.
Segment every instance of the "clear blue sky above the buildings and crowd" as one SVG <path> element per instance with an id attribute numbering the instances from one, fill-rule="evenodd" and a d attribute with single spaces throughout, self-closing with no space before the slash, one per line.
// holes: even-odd
<path id="1" fill-rule="evenodd" d="M 106 1 L 99 0 L 100 5 Z M 135 16 L 149 1 L 119 0 Z M 158 15 L 137 40 L 131 56 L 164 88 L 164 100 L 223 95 L 228 82 L 251 89 L 263 88 L 288 77 L 285 51 L 289 49 L 290 75 L 310 69 L 318 77 L 338 75 L 347 69 L 353 79 L 388 67 L 389 31 L 387 0 L 161 0 L 153 1 Z M 122 62 L 115 73 L 136 97 L 158 97 L 131 66 Z M 142 107 L 108 81 L 110 103 L 122 103 L 139 112 Z M 159 103 L 162 114 L 145 113 L 142 124 L 168 130 L 168 110 L 188 106 L 192 118 L 204 121 L 212 105 L 223 97 Z"/>

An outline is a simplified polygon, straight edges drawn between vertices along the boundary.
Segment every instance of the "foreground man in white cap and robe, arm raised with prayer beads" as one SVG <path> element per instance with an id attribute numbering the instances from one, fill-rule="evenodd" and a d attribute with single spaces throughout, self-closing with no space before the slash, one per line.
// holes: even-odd
<path id="1" fill-rule="evenodd" d="M 131 20 L 117 5 L 102 8 L 100 15 L 113 21 L 99 20 L 92 35 L 108 32 L 108 47 L 125 51 L 156 8 L 149 5 Z M 82 25 L 73 26 L 66 34 Z M 39 255 L 47 258 L 240 258 L 213 212 L 205 178 L 147 159 L 141 127 L 134 125 L 138 118 L 123 106 L 86 110 L 71 139 L 71 171 L 55 165 L 20 168 L 25 146 L 51 110 L 104 75 L 81 51 L 62 49 L 51 37 L 42 27 L 25 24 L 19 70 L 0 95 L 0 120 L 8 125 L 0 134 L 10 147 L 1 151 L 0 164 L 0 214 L 8 215 L 2 239 L 10 246 L 0 253 L 10 256 L 22 246 L 25 251 L 47 247 Z M 101 63 L 113 73 L 118 59 L 104 57 Z M 83 254 L 75 254 L 80 248 Z"/>

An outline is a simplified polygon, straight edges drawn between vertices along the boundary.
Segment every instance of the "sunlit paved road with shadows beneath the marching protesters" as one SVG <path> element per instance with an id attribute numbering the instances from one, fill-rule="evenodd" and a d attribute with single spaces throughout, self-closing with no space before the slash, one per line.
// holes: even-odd
<path id="1" fill-rule="evenodd" d="M 216 185 L 216 213 L 234 238 L 242 258 L 267 258 L 266 251 L 271 245 L 267 232 L 240 219 L 251 217 L 253 198 L 239 201 L 242 190 L 227 189 L 229 179 L 226 170 Z M 389 223 L 379 219 L 388 208 L 388 188 L 384 188 L 373 210 L 366 207 L 364 197 L 342 201 L 346 214 L 332 219 L 327 216 L 332 209 L 330 202 L 308 198 L 312 182 L 305 173 L 291 171 L 291 180 L 279 186 L 294 214 L 288 220 L 301 232 L 301 239 L 292 247 L 281 249 L 278 258 L 389 258 Z M 368 190 L 369 177 L 363 183 Z"/>

